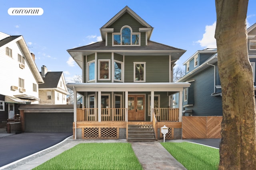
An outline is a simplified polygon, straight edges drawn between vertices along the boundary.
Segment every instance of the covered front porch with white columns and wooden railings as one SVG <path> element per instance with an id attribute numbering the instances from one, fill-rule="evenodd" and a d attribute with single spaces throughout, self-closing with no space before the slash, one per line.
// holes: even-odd
<path id="1" fill-rule="evenodd" d="M 172 94 L 182 96 L 189 83 L 78 83 L 67 84 L 83 95 L 82 107 L 74 104 L 74 139 L 128 139 L 129 125 L 180 128 L 182 97 L 172 106 Z M 154 100 L 151 100 L 154 96 Z M 168 127 L 168 126 L 167 126 Z"/>

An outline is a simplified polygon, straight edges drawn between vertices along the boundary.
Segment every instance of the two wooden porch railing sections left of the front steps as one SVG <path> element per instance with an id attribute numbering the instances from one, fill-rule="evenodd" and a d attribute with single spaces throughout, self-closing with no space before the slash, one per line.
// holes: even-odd
<path id="1" fill-rule="evenodd" d="M 79 108 L 77 121 L 98 121 L 98 108 Z M 102 108 L 101 121 L 125 121 L 125 108 Z"/>

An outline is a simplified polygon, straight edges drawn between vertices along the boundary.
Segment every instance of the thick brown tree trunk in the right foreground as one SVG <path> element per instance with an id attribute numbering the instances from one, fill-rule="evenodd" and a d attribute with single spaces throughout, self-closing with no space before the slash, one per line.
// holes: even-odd
<path id="1" fill-rule="evenodd" d="M 220 170 L 256 170 L 252 66 L 248 58 L 248 0 L 215 0 L 218 67 L 222 87 Z"/>

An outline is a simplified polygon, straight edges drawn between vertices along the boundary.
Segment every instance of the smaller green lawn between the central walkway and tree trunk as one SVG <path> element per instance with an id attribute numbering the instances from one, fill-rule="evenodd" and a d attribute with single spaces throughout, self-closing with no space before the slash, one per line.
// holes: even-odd
<path id="1" fill-rule="evenodd" d="M 161 143 L 168 152 L 188 170 L 217 170 L 219 149 L 194 143 Z"/>

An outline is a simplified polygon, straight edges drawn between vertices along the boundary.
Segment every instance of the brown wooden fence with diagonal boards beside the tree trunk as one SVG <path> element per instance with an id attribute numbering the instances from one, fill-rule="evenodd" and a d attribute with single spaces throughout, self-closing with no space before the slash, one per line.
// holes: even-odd
<path id="1" fill-rule="evenodd" d="M 183 116 L 182 139 L 221 138 L 222 116 Z"/>

